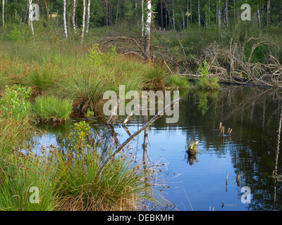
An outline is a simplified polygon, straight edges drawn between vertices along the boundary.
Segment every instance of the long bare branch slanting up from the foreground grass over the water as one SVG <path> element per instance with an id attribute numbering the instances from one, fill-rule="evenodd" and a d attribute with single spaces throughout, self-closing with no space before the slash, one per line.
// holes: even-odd
<path id="1" fill-rule="evenodd" d="M 138 129 L 137 131 L 135 131 L 135 133 L 133 135 L 131 135 L 128 139 L 126 139 L 122 144 L 121 146 L 119 146 L 115 152 L 109 156 L 109 158 L 106 160 L 106 162 L 104 162 L 104 164 L 99 168 L 98 172 L 97 172 L 97 178 L 99 178 L 99 176 L 101 176 L 104 168 L 106 167 L 106 165 L 109 164 L 109 162 L 111 162 L 111 160 L 113 160 L 116 155 L 118 155 L 118 153 L 121 152 L 121 150 L 123 150 L 123 148 L 131 141 L 135 138 L 135 136 L 137 136 L 138 134 L 140 134 L 142 131 L 144 131 L 147 127 L 149 127 L 152 123 L 154 123 L 157 119 L 159 119 L 159 117 L 163 116 L 164 113 L 166 113 L 166 111 L 168 109 L 170 109 L 171 107 L 173 107 L 174 105 L 176 105 L 177 103 L 179 103 L 179 101 L 181 100 L 182 98 L 178 98 L 174 101 L 171 101 L 171 103 L 169 103 L 168 105 L 166 105 L 166 107 L 159 111 L 156 115 L 154 115 L 154 117 L 152 117 L 151 120 L 149 120 L 143 127 L 141 127 L 140 129 Z"/>

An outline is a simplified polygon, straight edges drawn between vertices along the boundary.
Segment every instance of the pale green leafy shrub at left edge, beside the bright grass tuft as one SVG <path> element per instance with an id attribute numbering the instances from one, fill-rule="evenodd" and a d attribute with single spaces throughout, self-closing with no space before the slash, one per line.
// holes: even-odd
<path id="1" fill-rule="evenodd" d="M 20 119 L 25 117 L 29 110 L 27 98 L 30 97 L 31 89 L 18 85 L 6 86 L 4 96 L 0 98 L 0 111 L 4 117 Z"/>

